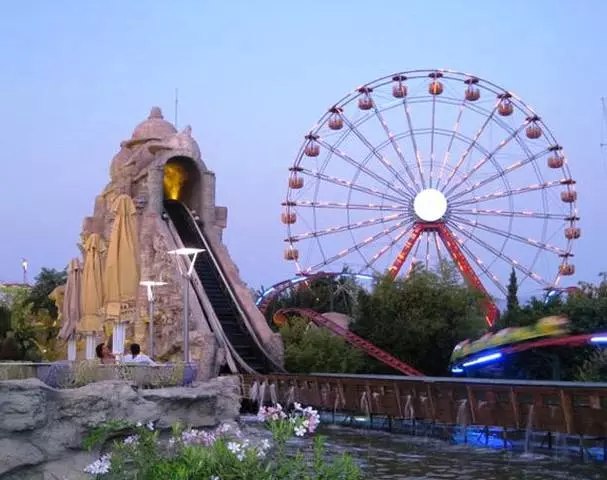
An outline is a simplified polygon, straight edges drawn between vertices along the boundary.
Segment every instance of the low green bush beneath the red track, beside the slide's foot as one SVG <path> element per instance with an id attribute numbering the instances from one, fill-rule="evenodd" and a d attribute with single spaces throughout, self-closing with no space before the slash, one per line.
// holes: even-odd
<path id="1" fill-rule="evenodd" d="M 291 318 L 280 329 L 285 343 L 285 366 L 292 373 L 357 373 L 364 355 L 328 330 L 301 318 Z"/>

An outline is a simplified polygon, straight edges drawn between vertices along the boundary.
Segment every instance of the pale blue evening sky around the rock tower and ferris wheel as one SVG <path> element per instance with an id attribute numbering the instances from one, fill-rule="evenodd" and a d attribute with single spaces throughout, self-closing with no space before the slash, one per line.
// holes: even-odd
<path id="1" fill-rule="evenodd" d="M 120 141 L 153 105 L 191 124 L 253 288 L 294 273 L 278 220 L 303 135 L 357 85 L 449 68 L 515 91 L 578 182 L 577 275 L 607 270 L 607 2 L 579 0 L 6 2 L 0 16 L 0 281 L 78 254 Z"/>

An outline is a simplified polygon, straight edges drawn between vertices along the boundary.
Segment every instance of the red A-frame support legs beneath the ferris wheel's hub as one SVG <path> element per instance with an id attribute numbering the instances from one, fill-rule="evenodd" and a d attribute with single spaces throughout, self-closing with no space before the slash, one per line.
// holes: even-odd
<path id="1" fill-rule="evenodd" d="M 449 227 L 447 227 L 444 222 L 416 223 L 413 227 L 411 235 L 409 236 L 409 239 L 407 240 L 403 249 L 398 254 L 396 260 L 388 270 L 388 274 L 392 278 L 395 278 L 398 275 L 400 269 L 407 260 L 407 257 L 411 253 L 411 250 L 413 250 L 413 247 L 419 240 L 419 237 L 424 232 L 436 232 L 438 234 L 438 237 L 445 245 L 445 248 L 449 252 L 449 255 L 451 255 L 451 259 L 457 266 L 462 276 L 473 288 L 478 290 L 483 295 L 482 306 L 485 310 L 485 321 L 487 322 L 487 325 L 489 327 L 492 327 L 495 324 L 495 321 L 497 320 L 498 309 L 495 306 L 493 300 L 491 299 L 489 292 L 487 292 L 487 289 L 481 282 L 480 278 L 478 278 L 478 275 L 468 263 L 468 260 L 466 259 L 466 256 L 459 247 L 455 236 L 453 235 L 453 233 L 451 233 L 451 230 L 449 230 Z"/>

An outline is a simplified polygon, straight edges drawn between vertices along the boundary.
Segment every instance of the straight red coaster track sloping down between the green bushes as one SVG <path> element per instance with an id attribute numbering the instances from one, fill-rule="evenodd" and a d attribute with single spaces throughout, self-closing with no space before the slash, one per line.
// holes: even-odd
<path id="1" fill-rule="evenodd" d="M 404 373 L 405 375 L 410 376 L 423 376 L 423 373 L 414 369 L 410 365 L 407 365 L 404 362 L 401 362 L 398 358 L 393 357 L 388 352 L 385 352 L 379 347 L 376 347 L 371 342 L 366 341 L 365 339 L 359 337 L 358 335 L 352 333 L 350 330 L 343 328 L 342 326 L 332 322 L 324 315 L 315 312 L 309 308 L 283 308 L 276 312 L 276 315 L 286 315 L 287 313 L 301 315 L 305 318 L 311 320 L 314 324 L 319 327 L 324 327 L 335 335 L 342 337 L 348 343 L 354 345 L 359 350 L 362 350 L 367 355 L 371 355 L 382 363 L 385 363 L 389 367 L 392 367 L 399 372 Z"/>

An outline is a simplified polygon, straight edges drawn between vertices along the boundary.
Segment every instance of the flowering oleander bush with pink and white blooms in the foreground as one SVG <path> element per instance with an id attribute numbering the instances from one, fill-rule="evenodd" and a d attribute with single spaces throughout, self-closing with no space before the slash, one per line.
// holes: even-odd
<path id="1" fill-rule="evenodd" d="M 348 454 L 328 459 L 325 439 L 315 436 L 311 451 L 288 454 L 287 441 L 313 435 L 318 413 L 295 404 L 287 413 L 277 404 L 262 408 L 258 418 L 272 440 L 251 440 L 234 426 L 214 431 L 173 428 L 162 440 L 153 424 L 111 422 L 93 431 L 88 448 L 110 443 L 85 472 L 98 480 L 360 480 Z M 120 439 L 116 437 L 120 436 Z"/>

